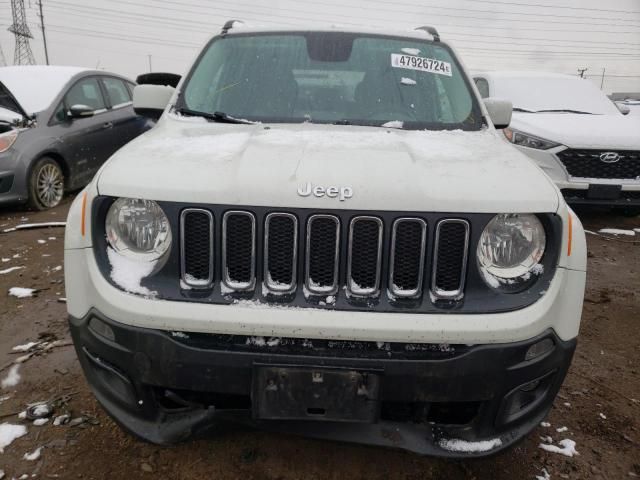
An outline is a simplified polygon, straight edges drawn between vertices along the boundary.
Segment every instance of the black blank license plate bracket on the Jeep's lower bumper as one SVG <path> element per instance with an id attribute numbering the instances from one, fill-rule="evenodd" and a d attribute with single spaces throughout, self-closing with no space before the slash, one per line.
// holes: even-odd
<path id="1" fill-rule="evenodd" d="M 258 364 L 253 417 L 373 423 L 379 415 L 380 372 Z"/>

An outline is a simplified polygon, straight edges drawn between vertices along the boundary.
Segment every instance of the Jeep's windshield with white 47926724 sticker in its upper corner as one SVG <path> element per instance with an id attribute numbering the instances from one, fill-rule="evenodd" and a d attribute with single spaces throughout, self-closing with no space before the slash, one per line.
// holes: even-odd
<path id="1" fill-rule="evenodd" d="M 217 37 L 191 71 L 177 109 L 274 123 L 482 127 L 447 47 L 337 32 Z"/>

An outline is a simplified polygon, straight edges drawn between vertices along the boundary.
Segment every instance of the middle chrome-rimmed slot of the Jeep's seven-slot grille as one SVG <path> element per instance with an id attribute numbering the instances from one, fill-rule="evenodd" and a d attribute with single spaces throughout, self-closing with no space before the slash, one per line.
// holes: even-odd
<path id="1" fill-rule="evenodd" d="M 340 220 L 333 215 L 312 215 L 307 222 L 305 284 L 311 293 L 338 291 Z"/>

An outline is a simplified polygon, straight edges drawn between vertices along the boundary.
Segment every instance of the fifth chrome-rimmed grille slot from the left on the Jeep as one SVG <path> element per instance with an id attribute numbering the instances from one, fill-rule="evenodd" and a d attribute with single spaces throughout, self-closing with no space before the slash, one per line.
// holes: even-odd
<path id="1" fill-rule="evenodd" d="M 374 296 L 380 291 L 382 220 L 355 217 L 349 228 L 347 278 L 349 292 Z"/>

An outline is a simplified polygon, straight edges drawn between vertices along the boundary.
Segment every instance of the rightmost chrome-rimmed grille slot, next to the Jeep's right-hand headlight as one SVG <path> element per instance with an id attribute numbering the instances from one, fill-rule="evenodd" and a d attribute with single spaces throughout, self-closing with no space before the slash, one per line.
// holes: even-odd
<path id="1" fill-rule="evenodd" d="M 435 243 L 431 293 L 436 299 L 459 300 L 467 273 L 469 222 L 441 220 Z"/>

